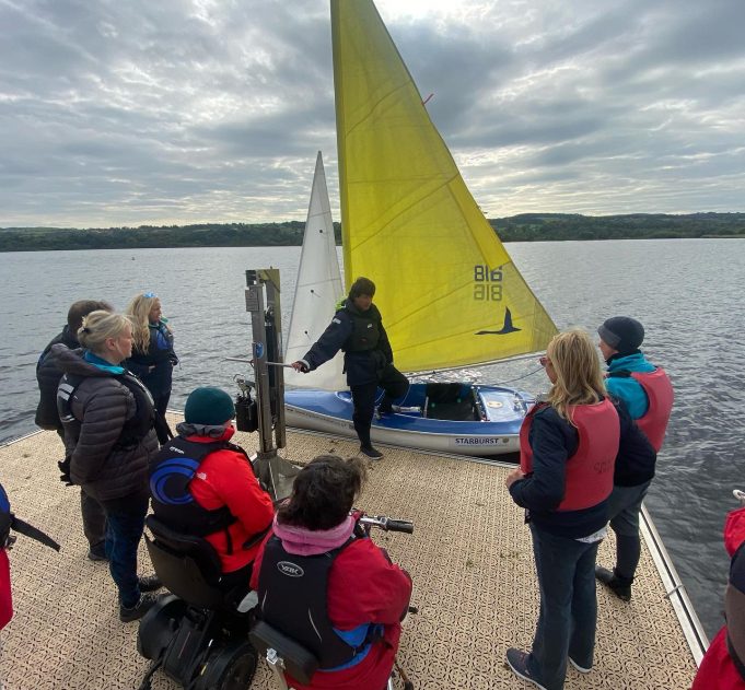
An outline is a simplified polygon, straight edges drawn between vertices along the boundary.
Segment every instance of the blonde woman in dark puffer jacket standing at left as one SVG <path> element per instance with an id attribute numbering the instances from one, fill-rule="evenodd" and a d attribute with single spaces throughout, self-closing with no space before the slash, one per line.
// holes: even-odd
<path id="1" fill-rule="evenodd" d="M 121 314 L 96 311 L 78 330 L 83 350 L 55 344 L 51 355 L 65 373 L 57 407 L 70 456 L 70 478 L 106 514 L 106 558 L 119 592 L 119 618 L 141 618 L 160 587 L 138 577 L 137 548 L 148 512 L 148 464 L 158 451 L 152 398 L 121 363 L 131 354 L 132 328 Z"/>

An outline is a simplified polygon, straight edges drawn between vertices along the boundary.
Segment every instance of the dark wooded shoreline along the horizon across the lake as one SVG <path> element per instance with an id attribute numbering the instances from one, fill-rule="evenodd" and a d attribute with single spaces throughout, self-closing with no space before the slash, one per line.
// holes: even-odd
<path id="1" fill-rule="evenodd" d="M 521 213 L 489 221 L 503 242 L 745 237 L 745 213 L 580 215 Z M 259 247 L 303 243 L 304 223 L 200 223 L 78 230 L 0 227 L 0 252 L 139 249 L 149 247 Z M 337 244 L 341 232 L 335 223 Z"/>

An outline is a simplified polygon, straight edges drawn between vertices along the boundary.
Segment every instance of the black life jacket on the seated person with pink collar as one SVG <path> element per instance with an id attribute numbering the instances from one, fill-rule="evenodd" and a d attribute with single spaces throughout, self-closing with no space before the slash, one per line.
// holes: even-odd
<path id="1" fill-rule="evenodd" d="M 318 555 L 290 554 L 277 536 L 264 547 L 257 593 L 259 615 L 311 651 L 319 660 L 318 668 L 347 664 L 373 641 L 365 640 L 359 647 L 347 644 L 328 618 L 328 574 L 336 557 L 352 540 Z"/>

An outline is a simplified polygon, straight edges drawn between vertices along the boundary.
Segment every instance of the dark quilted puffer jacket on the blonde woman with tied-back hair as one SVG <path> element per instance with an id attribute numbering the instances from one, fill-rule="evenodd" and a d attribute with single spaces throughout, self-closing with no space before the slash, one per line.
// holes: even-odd
<path id="1" fill-rule="evenodd" d="M 148 463 L 158 452 L 155 432 L 151 429 L 131 447 L 120 447 L 117 441 L 126 421 L 136 414 L 152 418 L 152 407 L 138 410 L 129 388 L 109 372 L 86 362 L 81 350 L 56 344 L 51 355 L 65 374 L 85 377 L 71 399 L 75 419 L 65 422 L 72 481 L 98 501 L 147 494 Z"/>

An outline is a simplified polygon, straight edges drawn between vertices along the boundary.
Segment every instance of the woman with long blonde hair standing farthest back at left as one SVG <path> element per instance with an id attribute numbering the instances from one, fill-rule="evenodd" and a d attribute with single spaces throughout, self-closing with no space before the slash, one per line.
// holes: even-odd
<path id="1" fill-rule="evenodd" d="M 162 315 L 161 301 L 154 292 L 136 295 L 126 312 L 132 321 L 132 355 L 126 366 L 140 377 L 155 402 L 158 441 L 173 437 L 165 421 L 171 399 L 173 367 L 178 358 L 173 351 L 173 331 Z"/>

